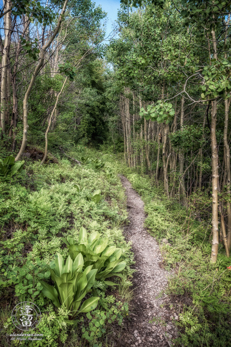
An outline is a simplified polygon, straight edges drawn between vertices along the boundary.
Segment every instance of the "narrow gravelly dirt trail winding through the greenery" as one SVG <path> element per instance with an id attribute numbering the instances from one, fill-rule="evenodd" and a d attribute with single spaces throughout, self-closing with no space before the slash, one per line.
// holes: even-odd
<path id="1" fill-rule="evenodd" d="M 169 273 L 162 267 L 162 256 L 156 240 L 144 228 L 144 202 L 124 176 L 121 176 L 121 182 L 126 189 L 130 221 L 124 232 L 127 241 L 132 242 L 136 273 L 130 319 L 124 322 L 120 343 L 115 346 L 173 346 L 171 339 L 176 336 L 173 320 L 178 317 L 173 309 L 164 306 L 169 303 L 169 297 L 163 293 Z M 149 323 L 150 320 L 153 322 Z"/>

